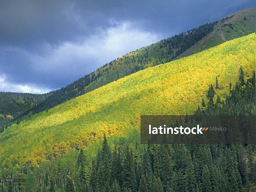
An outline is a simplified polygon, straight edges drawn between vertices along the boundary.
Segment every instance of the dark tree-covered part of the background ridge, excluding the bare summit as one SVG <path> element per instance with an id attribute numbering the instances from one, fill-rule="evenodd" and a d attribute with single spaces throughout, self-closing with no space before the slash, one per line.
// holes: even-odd
<path id="1" fill-rule="evenodd" d="M 100 86 L 116 81 L 124 76 L 151 66 L 174 60 L 178 55 L 196 44 L 204 36 L 212 32 L 218 23 L 207 23 L 179 35 L 161 40 L 156 44 L 142 47 L 106 63 L 96 71 L 85 75 L 67 86 L 46 94 L 28 94 L 1 92 L 0 94 L 0 125 L 19 119 L 22 116 L 38 113 L 53 108 L 67 100 L 90 92 Z M 31 113 L 33 112 L 33 113 Z M 13 119 L 4 118 L 11 115 Z"/>

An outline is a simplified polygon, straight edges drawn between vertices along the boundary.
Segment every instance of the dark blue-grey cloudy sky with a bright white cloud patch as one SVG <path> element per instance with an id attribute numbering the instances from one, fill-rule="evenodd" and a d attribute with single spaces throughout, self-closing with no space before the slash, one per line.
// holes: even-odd
<path id="1" fill-rule="evenodd" d="M 254 0 L 0 1 L 0 92 L 46 93 Z"/>

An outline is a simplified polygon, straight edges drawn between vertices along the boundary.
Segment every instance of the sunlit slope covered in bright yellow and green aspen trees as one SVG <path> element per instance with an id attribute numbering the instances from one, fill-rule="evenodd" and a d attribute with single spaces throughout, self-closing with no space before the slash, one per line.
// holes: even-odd
<path id="1" fill-rule="evenodd" d="M 191 113 L 216 76 L 223 96 L 238 68 L 250 76 L 254 62 L 255 33 L 126 76 L 6 129 L 0 134 L 0 162 L 11 156 L 40 163 L 72 144 L 90 146 L 103 132 L 129 137 L 134 127 L 140 130 L 140 115 Z"/>

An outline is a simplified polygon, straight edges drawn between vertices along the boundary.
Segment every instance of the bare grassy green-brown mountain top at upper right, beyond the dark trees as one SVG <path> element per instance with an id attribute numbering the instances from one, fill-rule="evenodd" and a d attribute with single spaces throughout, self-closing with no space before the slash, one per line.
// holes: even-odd
<path id="1" fill-rule="evenodd" d="M 187 57 L 196 52 L 214 47 L 234 38 L 246 36 L 255 32 L 255 7 L 235 12 L 220 20 L 209 35 L 202 38 L 190 49 L 176 59 Z"/>

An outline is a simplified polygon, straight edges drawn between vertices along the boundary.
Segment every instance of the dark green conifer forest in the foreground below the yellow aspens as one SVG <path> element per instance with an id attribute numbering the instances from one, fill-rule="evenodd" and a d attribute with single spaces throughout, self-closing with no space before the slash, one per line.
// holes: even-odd
<path id="1" fill-rule="evenodd" d="M 243 68 L 230 84 L 225 101 L 214 99 L 216 82 L 194 115 L 255 115 L 255 73 L 245 80 Z M 25 183 L 1 184 L 0 191 L 86 192 L 230 192 L 255 191 L 255 145 L 194 144 L 142 145 L 120 143 L 110 148 L 107 137 L 96 156 L 86 150 L 46 157 L 40 166 L 28 162 L 21 169 L 5 162 L 3 178 L 19 175 Z M 7 159 L 6 159 L 7 160 Z"/>

